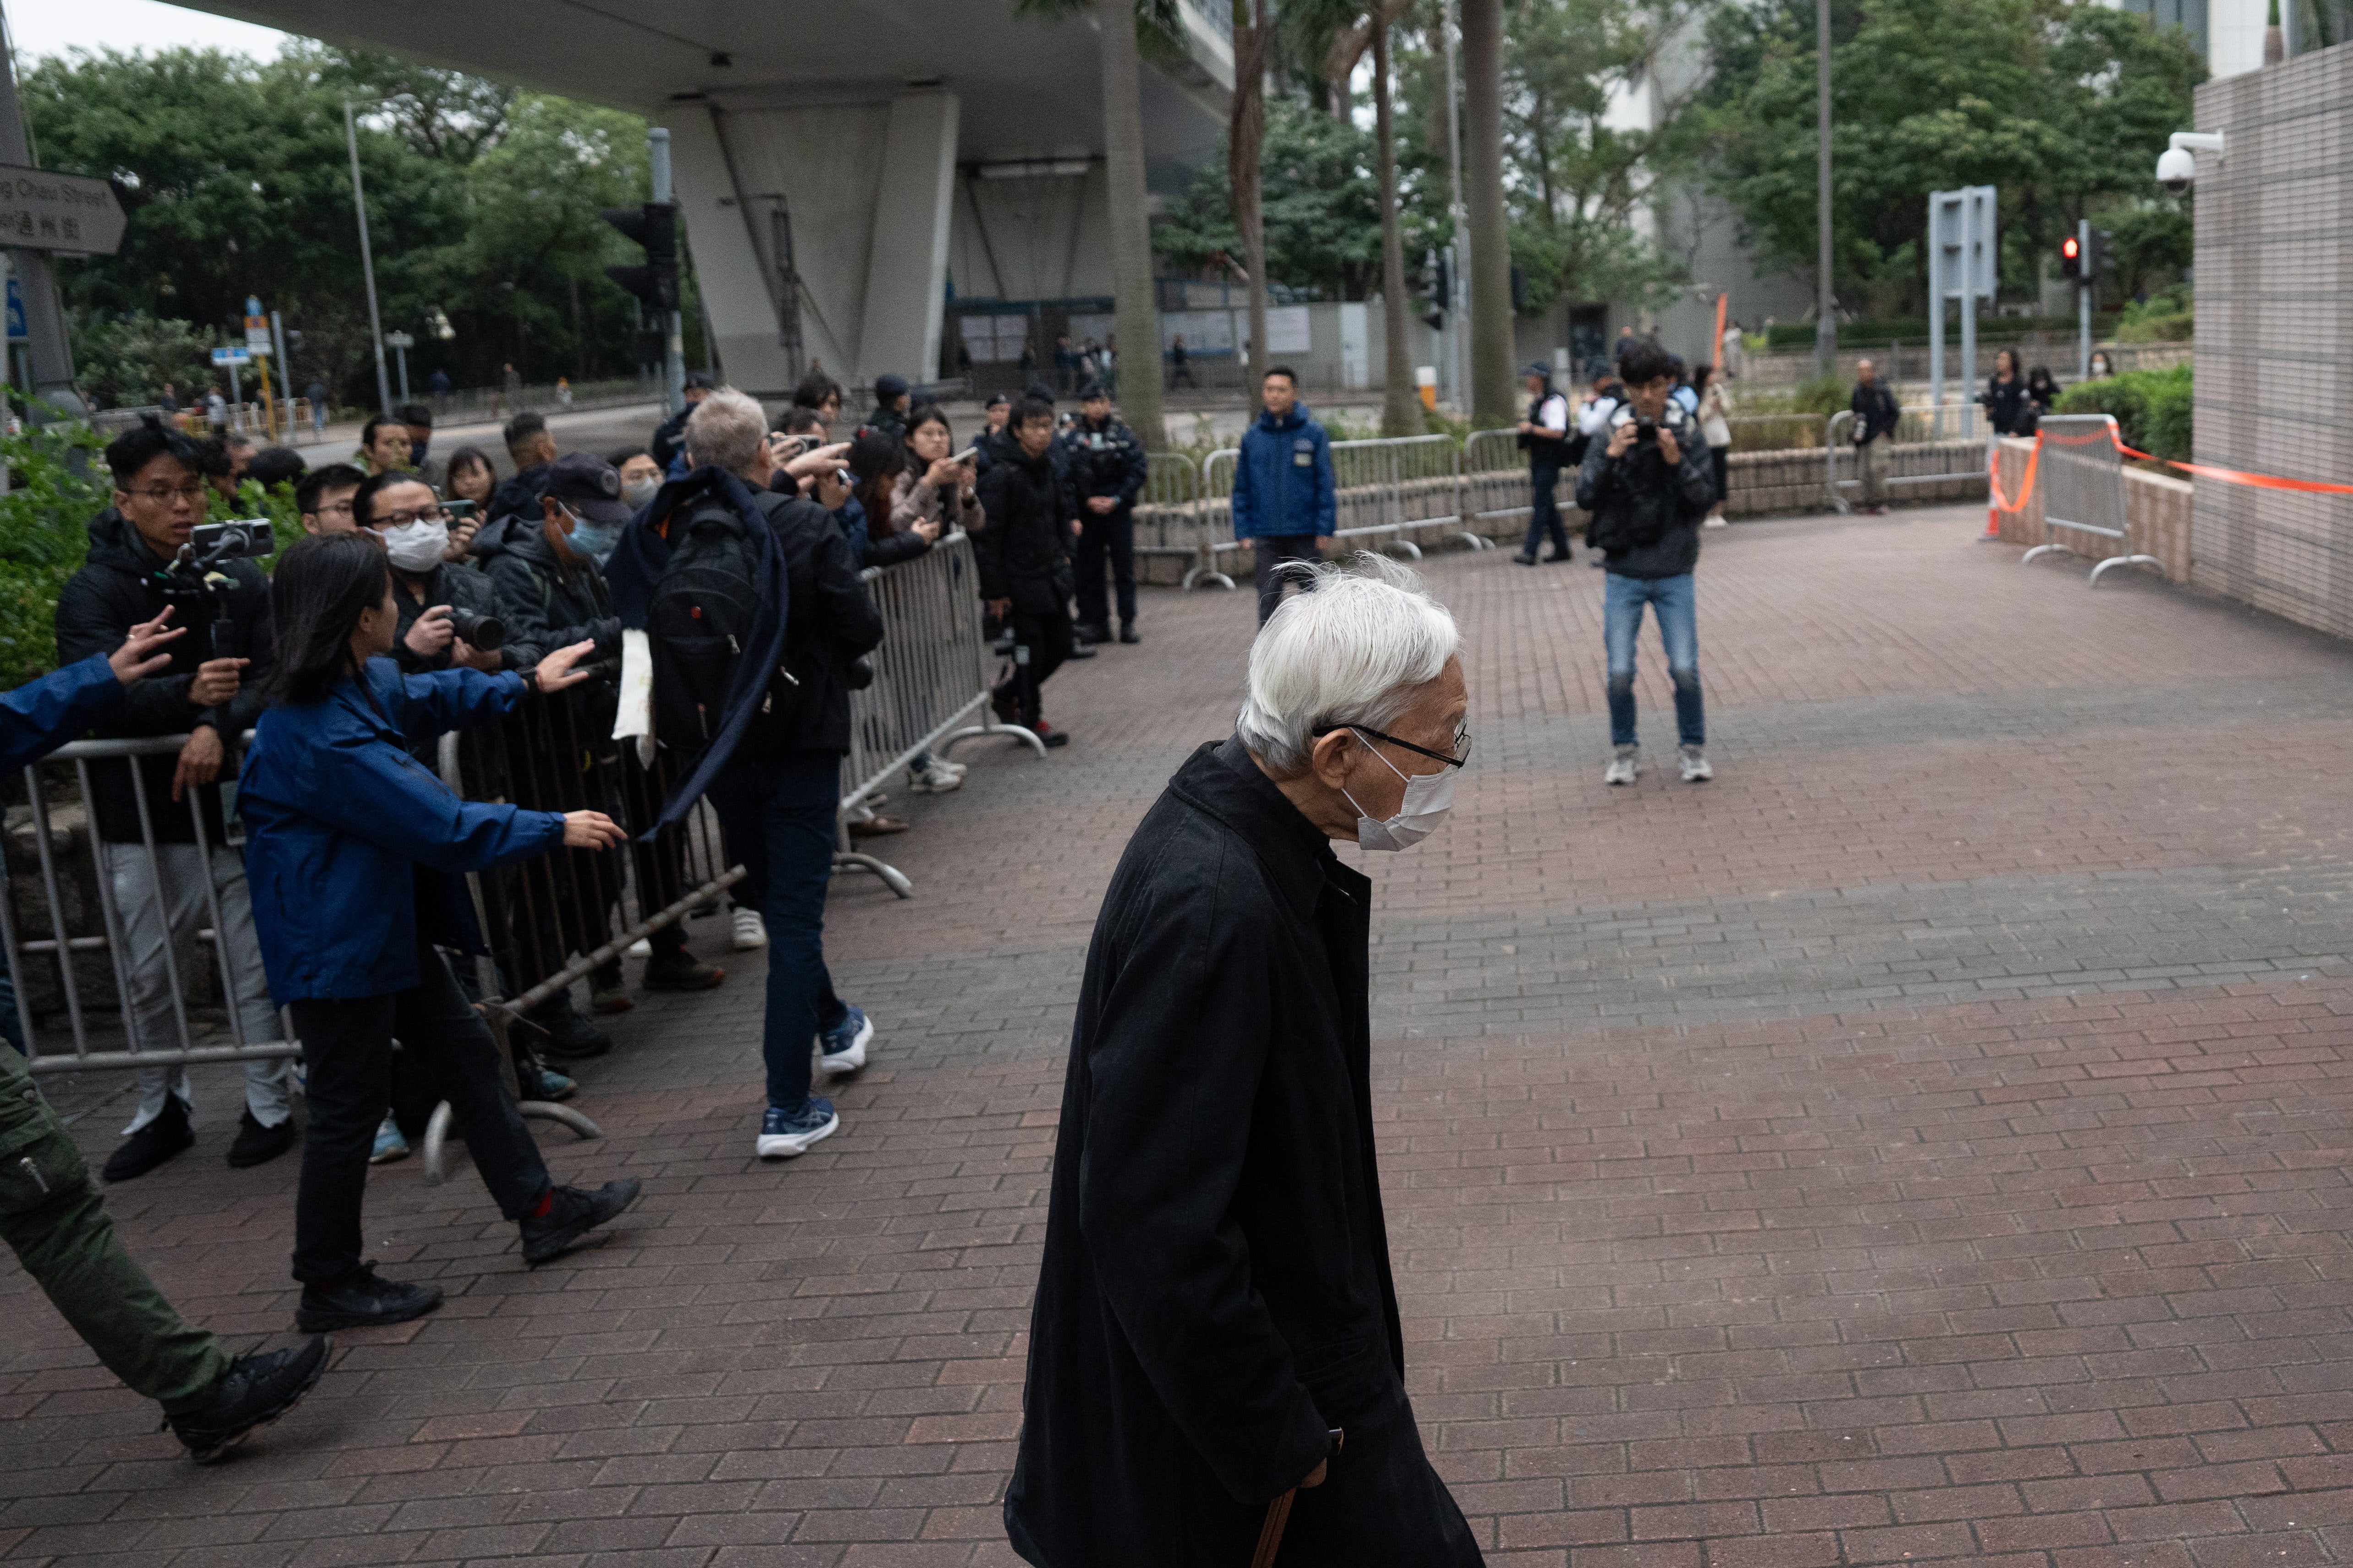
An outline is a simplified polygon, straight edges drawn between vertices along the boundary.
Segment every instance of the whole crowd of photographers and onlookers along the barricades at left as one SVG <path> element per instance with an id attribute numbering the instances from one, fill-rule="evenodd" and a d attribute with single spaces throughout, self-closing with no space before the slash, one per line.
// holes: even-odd
<path id="1" fill-rule="evenodd" d="M 435 451 L 426 404 L 367 421 L 351 461 L 318 468 L 155 418 L 108 444 L 113 503 L 56 602 L 59 672 L 5 693 L 0 764 L 85 736 L 160 741 L 82 757 L 122 1027 L 169 1063 L 134 1070 L 99 1175 L 151 1178 L 198 1143 L 174 1046 L 195 1044 L 181 976 L 212 933 L 240 1041 L 299 1044 L 299 1060 L 240 1063 L 226 1157 L 249 1168 L 301 1145 L 301 1331 L 440 1302 L 360 1258 L 369 1164 L 405 1157 L 440 1103 L 527 1262 L 628 1208 L 633 1180 L 555 1185 L 518 1105 L 572 1098 L 565 1067 L 612 1051 L 595 1018 L 633 1006 L 624 959 L 642 990 L 725 985 L 685 917 L 725 914 L 734 950 L 769 950 L 758 1157 L 840 1128 L 814 1088 L 866 1065 L 875 1025 L 833 990 L 826 884 L 842 835 L 908 827 L 871 790 L 840 811 L 852 691 L 887 632 L 875 574 L 969 550 L 953 581 L 972 646 L 995 656 L 974 684 L 1045 748 L 1068 743 L 1045 719 L 1054 670 L 1141 642 L 1146 456 L 1106 386 L 1082 383 L 1075 414 L 1045 383 L 998 397 L 962 444 L 896 376 L 856 423 L 845 400 L 819 371 L 772 421 L 689 376 L 685 409 L 609 454 L 562 451 L 525 411 L 504 428 L 504 480 L 475 447 Z M 299 517 L 271 571 L 261 531 L 200 536 L 212 496 L 245 480 L 285 487 Z M 906 773 L 944 795 L 965 766 L 915 750 Z M 485 1001 L 515 1004 L 499 1009 L 504 1056 Z M 16 1025 L 0 969 L 9 1244 L 191 1453 L 216 1458 L 318 1380 L 325 1340 L 231 1361 L 176 1316 L 115 1241 Z"/>

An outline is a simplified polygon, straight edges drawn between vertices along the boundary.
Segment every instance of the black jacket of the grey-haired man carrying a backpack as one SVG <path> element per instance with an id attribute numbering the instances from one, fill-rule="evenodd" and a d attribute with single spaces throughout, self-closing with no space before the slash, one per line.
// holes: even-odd
<path id="1" fill-rule="evenodd" d="M 784 724 L 746 733 L 736 757 L 762 755 L 753 736 L 769 733 L 765 755 L 849 750 L 849 665 L 882 644 L 882 614 L 866 597 L 833 512 L 814 501 L 760 491 L 753 505 L 784 550 L 784 668 L 798 682 Z M 779 708 L 784 701 L 779 698 Z"/>

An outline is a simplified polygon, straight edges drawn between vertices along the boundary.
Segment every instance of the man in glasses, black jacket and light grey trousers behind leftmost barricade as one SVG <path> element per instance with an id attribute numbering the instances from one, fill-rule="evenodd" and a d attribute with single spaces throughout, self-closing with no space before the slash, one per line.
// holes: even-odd
<path id="1" fill-rule="evenodd" d="M 89 557 L 56 595 L 56 663 L 111 654 L 122 630 L 153 621 L 167 607 L 188 635 L 172 644 L 172 663 L 132 686 L 122 708 L 96 726 L 104 738 L 188 736 L 179 755 L 89 764 L 89 811 L 99 865 L 122 919 L 122 971 L 129 985 L 132 1048 L 169 1051 L 181 1041 L 174 966 L 198 973 L 207 959 L 198 931 L 212 926 L 219 903 L 219 954 L 228 966 L 228 1006 L 249 1041 L 278 1039 L 261 950 L 245 886 L 245 863 L 228 846 L 221 792 L 214 780 L 228 748 L 252 726 L 261 701 L 252 682 L 271 668 L 268 583 L 249 559 L 224 559 L 212 574 L 181 562 L 205 522 L 205 480 L 195 442 L 148 418 L 106 447 L 115 503 L 89 520 Z M 219 578 L 219 581 L 212 581 Z M 153 858 L 139 820 L 146 792 Z M 202 844 L 198 844 L 202 811 Z M 294 1145 L 287 1060 L 245 1063 L 245 1117 L 228 1164 L 259 1166 Z M 146 1175 L 191 1143 L 184 1067 L 141 1067 L 139 1110 L 122 1128 L 122 1147 L 106 1161 L 111 1182 Z"/>

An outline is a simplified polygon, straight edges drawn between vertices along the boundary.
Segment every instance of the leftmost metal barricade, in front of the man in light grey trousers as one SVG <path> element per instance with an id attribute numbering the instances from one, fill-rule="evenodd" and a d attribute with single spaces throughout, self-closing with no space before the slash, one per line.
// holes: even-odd
<path id="1" fill-rule="evenodd" d="M 146 856 L 151 886 L 160 889 L 165 884 L 165 872 L 155 851 L 153 802 L 148 799 L 148 783 L 136 766 L 136 759 L 172 757 L 186 743 L 188 736 L 75 741 L 73 745 L 59 748 L 24 769 L 26 802 L 31 806 L 28 832 L 33 839 L 31 849 L 38 884 L 33 889 L 35 896 L 28 900 L 31 910 L 21 910 L 19 896 L 26 889 L 26 879 L 14 870 L 7 870 L 5 860 L 0 860 L 0 954 L 7 957 L 7 973 L 14 976 L 16 1018 L 24 1030 L 26 1060 L 33 1072 L 61 1072 L 73 1067 L 179 1067 L 188 1063 L 242 1063 L 256 1058 L 301 1056 L 301 1041 L 292 1037 L 292 1030 L 282 1027 L 285 1013 L 278 1016 L 282 1030 L 278 1039 L 245 1037 L 245 1020 L 238 1016 L 235 1006 L 235 980 L 228 971 L 228 952 L 219 940 L 221 898 L 209 875 L 214 844 L 205 827 L 202 811 L 191 811 L 191 818 L 195 820 L 195 849 L 205 860 L 205 919 L 209 924 L 202 926 L 195 938 L 198 943 L 212 943 L 221 997 L 228 1004 L 228 1044 L 198 1044 L 200 1034 L 188 1020 L 188 992 L 195 976 L 181 973 L 179 952 L 174 952 L 179 947 L 176 933 L 167 936 L 160 952 L 165 976 L 172 985 L 174 1039 L 139 1039 L 125 922 L 122 910 L 115 907 L 113 875 L 108 872 L 106 856 L 99 849 L 99 823 L 96 811 L 89 806 L 94 799 L 89 780 L 94 764 L 122 766 L 129 771 L 132 797 L 139 806 L 136 849 Z M 73 837 L 73 806 L 61 806 L 52 799 L 49 780 L 42 776 L 45 769 L 71 769 L 73 773 L 73 785 L 80 795 L 82 809 L 87 882 L 78 875 L 78 856 L 64 853 L 64 846 Z M 228 769 L 224 769 L 224 773 Z M 233 773 L 228 776 L 233 778 Z M 16 835 L 9 832 L 9 837 L 14 839 Z M 231 846 L 235 846 L 235 842 L 231 842 Z M 7 851 L 7 858 L 16 858 L 19 853 L 14 844 L 9 844 Z M 96 905 L 96 919 L 92 919 L 92 903 Z M 92 1018 L 94 1009 L 82 997 L 82 976 L 75 964 L 78 954 L 99 952 L 106 954 L 113 973 L 115 1001 L 120 1006 L 120 1023 L 113 1025 Z M 28 964 L 28 959 L 35 964 Z M 42 1046 L 45 1025 L 35 1023 L 35 1013 L 40 1011 L 35 1004 L 52 994 L 64 1004 L 71 1048 L 59 1048 L 56 1044 L 47 1048 Z M 56 1009 L 49 1011 L 54 1013 Z"/>

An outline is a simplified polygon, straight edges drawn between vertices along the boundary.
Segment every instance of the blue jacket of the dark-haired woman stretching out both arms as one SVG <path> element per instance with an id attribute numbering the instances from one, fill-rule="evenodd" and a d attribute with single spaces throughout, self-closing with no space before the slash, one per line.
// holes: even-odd
<path id="1" fill-rule="evenodd" d="M 400 675 L 369 658 L 365 691 L 346 679 L 318 703 L 261 715 L 238 813 L 278 1006 L 405 992 L 421 978 L 419 936 L 480 952 L 461 872 L 558 849 L 565 818 L 459 799 L 407 748 L 492 724 L 522 693 L 520 675 Z"/>

